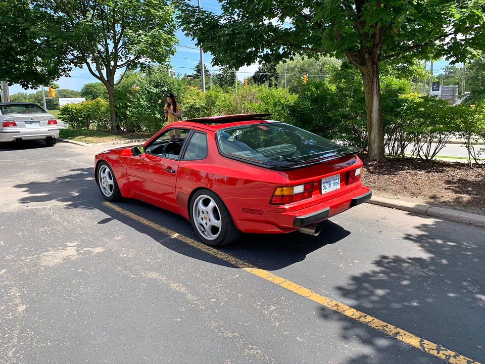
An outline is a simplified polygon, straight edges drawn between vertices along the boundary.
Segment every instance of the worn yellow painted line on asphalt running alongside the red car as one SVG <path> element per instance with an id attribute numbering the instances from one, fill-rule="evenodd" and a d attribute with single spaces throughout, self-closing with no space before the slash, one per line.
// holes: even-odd
<path id="1" fill-rule="evenodd" d="M 258 276 L 268 282 L 274 283 L 277 286 L 280 286 L 282 288 L 287 289 L 288 291 L 292 291 L 293 293 L 296 293 L 300 296 L 306 297 L 309 300 L 312 300 L 313 302 L 316 302 L 318 304 L 321 304 L 322 306 L 325 306 L 327 308 L 330 308 L 333 311 L 336 311 L 338 313 L 343 314 L 344 316 L 350 317 L 350 319 L 353 319 L 355 321 L 358 321 L 360 323 L 363 323 L 367 326 L 370 326 L 371 328 L 380 331 L 388 336 L 391 336 L 395 339 L 398 339 L 399 341 L 412 346 L 416 349 L 422 350 L 428 354 L 431 354 L 433 356 L 436 356 L 448 363 L 451 364 L 480 364 L 478 361 L 475 361 L 473 359 L 470 359 L 466 356 L 463 356 L 456 351 L 447 349 L 441 345 L 434 344 L 431 341 L 425 340 L 419 336 L 413 335 L 410 332 L 407 332 L 406 330 L 400 329 L 394 325 L 387 324 L 379 319 L 376 319 L 375 317 L 368 315 L 364 312 L 358 311 L 352 307 L 349 307 L 341 302 L 334 301 L 328 297 L 322 296 L 318 293 L 313 292 L 312 290 L 302 287 L 296 283 L 293 283 L 291 281 L 288 281 L 284 278 L 278 277 L 271 272 L 264 270 L 264 269 L 259 269 L 258 267 L 255 267 L 254 265 L 245 262 L 244 260 L 240 260 L 236 257 L 233 257 L 232 255 L 226 254 L 224 252 L 221 252 L 220 250 L 211 248 L 210 246 L 207 246 L 205 244 L 202 244 L 196 240 L 190 239 L 186 236 L 183 236 L 181 234 L 178 234 L 170 229 L 164 228 L 163 226 L 160 226 L 159 224 L 147 220 L 146 218 L 143 218 L 141 216 L 138 216 L 130 211 L 127 211 L 115 204 L 112 204 L 111 202 L 104 202 L 103 205 L 106 207 L 109 207 L 133 220 L 136 220 L 144 225 L 150 226 L 151 228 L 167 234 L 171 236 L 173 239 L 180 240 L 194 248 L 197 248 L 199 250 L 202 250 L 208 254 L 211 254 L 213 256 L 218 257 L 219 259 L 222 259 L 226 262 L 231 263 L 232 265 L 242 268 L 251 274 L 254 274 L 255 276 Z"/>

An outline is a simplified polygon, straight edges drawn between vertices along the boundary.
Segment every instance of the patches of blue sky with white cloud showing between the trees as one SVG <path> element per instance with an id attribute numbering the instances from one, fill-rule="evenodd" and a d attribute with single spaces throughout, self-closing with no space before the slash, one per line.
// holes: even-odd
<path id="1" fill-rule="evenodd" d="M 197 0 L 189 0 L 190 4 L 197 5 Z M 220 5 L 216 0 L 201 0 L 202 8 L 220 13 Z M 187 38 L 181 31 L 176 32 L 179 39 L 176 47 L 176 54 L 172 57 L 172 66 L 177 74 L 191 74 L 194 67 L 199 63 L 200 51 L 195 47 L 195 41 Z M 216 67 L 211 65 L 212 56 L 210 54 L 204 54 L 204 64 L 210 70 L 216 70 Z M 436 61 L 434 62 L 434 74 L 439 74 L 448 64 L 448 61 Z M 243 80 L 245 77 L 251 76 L 258 69 L 257 64 L 242 67 L 239 69 L 238 79 Z M 429 69 L 429 62 L 427 63 L 427 69 Z M 98 82 L 87 70 L 86 67 L 74 68 L 71 72 L 71 77 L 62 77 L 56 83 L 60 85 L 60 88 L 69 88 L 80 90 L 82 86 L 89 82 Z M 20 85 L 11 85 L 10 94 L 18 92 L 35 92 L 36 90 L 24 90 Z"/>

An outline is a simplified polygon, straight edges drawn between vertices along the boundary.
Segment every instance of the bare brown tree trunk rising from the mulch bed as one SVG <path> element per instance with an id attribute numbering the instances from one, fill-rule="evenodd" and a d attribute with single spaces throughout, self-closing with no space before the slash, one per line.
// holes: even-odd
<path id="1" fill-rule="evenodd" d="M 369 62 L 361 70 L 364 82 L 365 109 L 367 113 L 368 158 L 384 159 L 384 121 L 380 98 L 379 63 Z"/>

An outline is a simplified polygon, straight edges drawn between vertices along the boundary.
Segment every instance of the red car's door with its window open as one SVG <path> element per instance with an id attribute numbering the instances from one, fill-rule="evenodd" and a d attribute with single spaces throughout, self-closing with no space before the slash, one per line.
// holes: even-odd
<path id="1" fill-rule="evenodd" d="M 135 194 L 143 201 L 170 208 L 175 205 L 175 184 L 180 153 L 190 132 L 171 128 L 130 158 L 127 175 Z"/>

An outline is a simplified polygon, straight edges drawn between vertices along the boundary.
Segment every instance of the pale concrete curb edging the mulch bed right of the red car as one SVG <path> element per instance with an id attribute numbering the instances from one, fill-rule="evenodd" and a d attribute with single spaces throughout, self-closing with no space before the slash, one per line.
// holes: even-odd
<path id="1" fill-rule="evenodd" d="M 472 214 L 469 212 L 452 210 L 442 207 L 434 207 L 430 205 L 417 204 L 408 201 L 393 200 L 379 196 L 372 196 L 372 199 L 367 203 L 390 207 L 398 210 L 409 211 L 419 215 L 426 215 L 432 217 L 444 218 L 447 220 L 458 221 L 476 226 L 485 227 L 485 216 Z"/>

